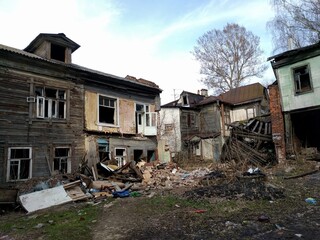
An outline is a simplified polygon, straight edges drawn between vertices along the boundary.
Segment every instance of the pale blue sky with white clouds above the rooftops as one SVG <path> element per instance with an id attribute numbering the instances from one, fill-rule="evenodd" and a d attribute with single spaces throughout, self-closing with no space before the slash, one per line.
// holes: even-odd
<path id="1" fill-rule="evenodd" d="M 64 33 L 81 47 L 72 62 L 108 74 L 143 78 L 159 85 L 161 104 L 184 90 L 207 88 L 191 54 L 197 39 L 237 23 L 260 37 L 267 58 L 272 38 L 266 23 L 270 0 L 0 0 L 0 44 L 24 49 L 39 33 Z M 209 94 L 210 94 L 209 90 Z"/>

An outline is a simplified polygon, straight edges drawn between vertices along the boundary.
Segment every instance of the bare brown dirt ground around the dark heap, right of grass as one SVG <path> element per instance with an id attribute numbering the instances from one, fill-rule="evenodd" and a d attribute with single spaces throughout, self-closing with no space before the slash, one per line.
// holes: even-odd
<path id="1" fill-rule="evenodd" d="M 117 199 L 104 205 L 93 239 L 317 239 L 320 236 L 320 204 L 308 204 L 305 198 L 320 200 L 319 183 L 319 171 L 283 180 L 279 183 L 282 185 L 283 196 L 280 196 L 281 191 L 269 191 L 269 202 L 274 207 L 262 212 L 250 211 L 244 207 L 237 214 L 231 214 L 232 218 L 230 215 L 215 216 L 206 211 L 179 206 L 162 213 L 159 211 L 161 205 L 144 209 L 141 198 Z M 247 201 L 257 201 L 257 204 L 261 201 L 247 199 L 246 194 L 239 197 L 239 193 L 236 196 L 228 192 L 231 191 L 224 191 L 224 196 L 221 196 L 221 192 L 218 194 L 216 189 L 212 191 L 212 187 L 207 186 L 173 189 L 171 193 L 157 194 L 175 194 L 186 198 L 198 195 L 200 201 L 207 199 L 212 204 L 238 197 L 236 204 L 239 208 L 246 206 Z M 256 192 L 258 190 L 253 189 L 248 196 L 253 196 Z M 286 207 L 286 204 L 292 206 Z"/>

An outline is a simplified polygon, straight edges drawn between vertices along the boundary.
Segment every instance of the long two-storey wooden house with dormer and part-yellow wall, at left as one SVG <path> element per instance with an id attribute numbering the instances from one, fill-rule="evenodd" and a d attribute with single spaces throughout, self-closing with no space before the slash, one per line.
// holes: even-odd
<path id="1" fill-rule="evenodd" d="M 73 64 L 79 47 L 63 33 L 0 44 L 0 183 L 155 158 L 161 89 Z"/>

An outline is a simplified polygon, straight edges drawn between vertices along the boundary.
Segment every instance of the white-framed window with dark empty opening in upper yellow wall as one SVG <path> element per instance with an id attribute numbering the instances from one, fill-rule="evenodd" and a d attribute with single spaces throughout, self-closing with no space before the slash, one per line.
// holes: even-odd
<path id="1" fill-rule="evenodd" d="M 99 95 L 99 122 L 117 125 L 117 99 Z"/>

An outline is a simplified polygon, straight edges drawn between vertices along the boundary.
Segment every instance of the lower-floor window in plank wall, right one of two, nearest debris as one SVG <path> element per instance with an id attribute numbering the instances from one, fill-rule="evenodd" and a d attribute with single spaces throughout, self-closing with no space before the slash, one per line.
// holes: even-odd
<path id="1" fill-rule="evenodd" d="M 53 170 L 60 173 L 71 172 L 70 148 L 57 147 L 54 149 Z"/>

